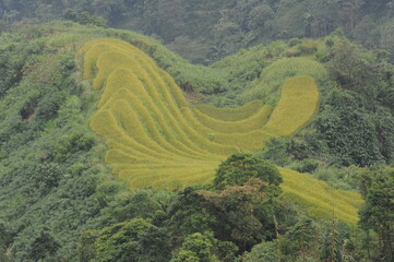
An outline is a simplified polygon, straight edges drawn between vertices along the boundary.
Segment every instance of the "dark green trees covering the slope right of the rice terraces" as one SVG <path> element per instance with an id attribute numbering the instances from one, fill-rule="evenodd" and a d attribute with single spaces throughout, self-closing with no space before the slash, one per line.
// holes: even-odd
<path id="1" fill-rule="evenodd" d="M 391 164 L 393 64 L 385 53 L 353 44 L 341 31 L 320 45 L 314 56 L 330 75 L 320 84 L 319 114 L 308 129 L 294 138 L 272 140 L 262 154 L 275 164 L 294 164 L 309 172 L 318 168 L 313 159 L 337 167 Z"/>

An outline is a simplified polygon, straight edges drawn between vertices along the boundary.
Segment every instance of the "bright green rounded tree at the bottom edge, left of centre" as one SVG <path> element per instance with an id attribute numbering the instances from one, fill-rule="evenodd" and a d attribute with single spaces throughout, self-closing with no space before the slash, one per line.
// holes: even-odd
<path id="1" fill-rule="evenodd" d="M 102 230 L 89 230 L 80 241 L 81 261 L 167 261 L 170 241 L 166 231 L 147 219 L 133 218 Z"/>

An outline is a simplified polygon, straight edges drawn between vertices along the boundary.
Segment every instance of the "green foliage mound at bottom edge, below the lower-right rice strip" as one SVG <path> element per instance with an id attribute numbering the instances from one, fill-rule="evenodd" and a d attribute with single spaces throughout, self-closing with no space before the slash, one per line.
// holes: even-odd
<path id="1" fill-rule="evenodd" d="M 241 261 L 361 261 L 362 250 L 357 250 L 356 241 L 349 228 L 335 217 L 317 224 L 300 216 L 286 234 L 255 245 Z"/>

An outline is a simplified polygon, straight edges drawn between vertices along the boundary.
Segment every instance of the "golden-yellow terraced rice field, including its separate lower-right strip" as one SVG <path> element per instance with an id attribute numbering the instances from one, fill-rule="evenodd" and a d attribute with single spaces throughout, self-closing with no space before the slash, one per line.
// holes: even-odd
<path id="1" fill-rule="evenodd" d="M 218 164 L 230 154 L 258 151 L 272 136 L 292 134 L 318 106 L 319 92 L 311 76 L 285 82 L 275 108 L 259 100 L 231 109 L 192 107 L 167 72 L 124 41 L 97 39 L 79 55 L 84 61 L 84 78 L 102 92 L 91 128 L 109 146 L 106 163 L 131 189 L 177 189 L 210 182 Z M 284 191 L 318 213 L 336 206 L 338 217 L 349 223 L 357 219 L 359 196 L 353 201 L 345 192 L 306 175 L 286 169 L 282 174 Z M 314 186 L 319 186 L 319 193 L 306 194 Z"/>

